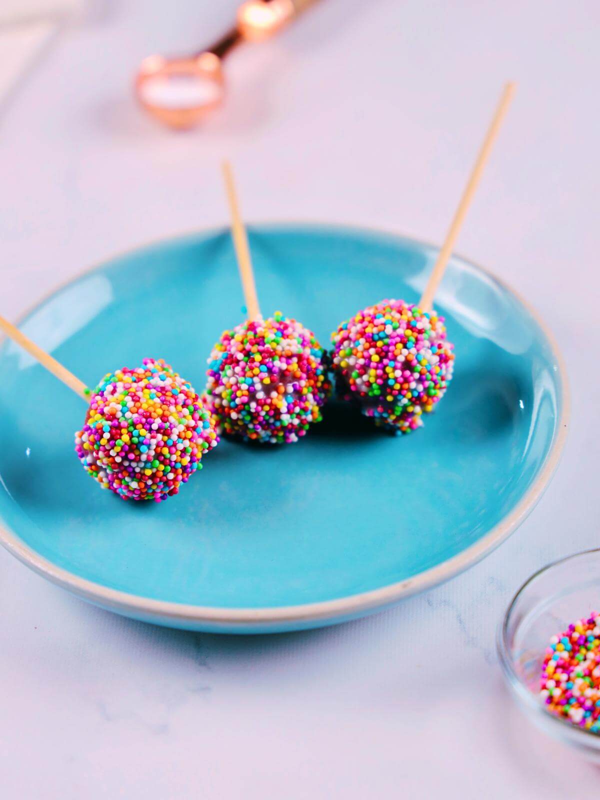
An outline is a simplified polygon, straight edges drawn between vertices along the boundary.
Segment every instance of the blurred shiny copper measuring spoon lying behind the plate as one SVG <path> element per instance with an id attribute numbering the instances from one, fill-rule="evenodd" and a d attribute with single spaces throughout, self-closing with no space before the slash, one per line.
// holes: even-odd
<path id="1" fill-rule="evenodd" d="M 261 42 L 286 26 L 315 0 L 248 0 L 238 9 L 233 28 L 194 55 L 151 55 L 135 78 L 142 107 L 171 128 L 191 128 L 222 102 L 223 59 L 242 42 Z"/>

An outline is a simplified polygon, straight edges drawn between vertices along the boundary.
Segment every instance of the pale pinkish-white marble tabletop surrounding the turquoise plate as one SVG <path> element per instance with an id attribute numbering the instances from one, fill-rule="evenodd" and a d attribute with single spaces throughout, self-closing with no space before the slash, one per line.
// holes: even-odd
<path id="1" fill-rule="evenodd" d="M 494 631 L 534 569 L 598 546 L 600 6 L 324 0 L 278 41 L 234 54 L 229 105 L 203 130 L 143 118 L 130 101 L 138 60 L 210 39 L 234 6 L 98 3 L 20 87 L 0 117 L 2 312 L 116 251 L 223 222 L 224 154 L 251 219 L 439 242 L 511 77 L 518 97 L 459 250 L 562 338 L 570 440 L 538 508 L 484 562 L 329 630 L 154 628 L 2 550 L 2 797 L 593 796 L 598 772 L 514 710 Z"/>

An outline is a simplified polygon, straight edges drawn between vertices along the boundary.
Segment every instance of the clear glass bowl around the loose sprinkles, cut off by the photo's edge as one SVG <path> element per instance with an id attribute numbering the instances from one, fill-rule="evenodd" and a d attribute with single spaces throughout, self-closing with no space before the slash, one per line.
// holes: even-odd
<path id="1" fill-rule="evenodd" d="M 600 550 L 562 558 L 539 570 L 514 595 L 498 628 L 498 655 L 518 706 L 542 730 L 600 764 L 600 735 L 546 710 L 539 680 L 550 637 L 600 611 Z"/>

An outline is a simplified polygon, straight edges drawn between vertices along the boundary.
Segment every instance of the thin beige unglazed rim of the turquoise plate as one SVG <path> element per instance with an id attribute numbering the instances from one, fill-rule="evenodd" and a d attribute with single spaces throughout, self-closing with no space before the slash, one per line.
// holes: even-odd
<path id="1" fill-rule="evenodd" d="M 343 224 L 339 222 L 314 222 L 312 220 L 294 220 L 289 222 L 280 220 L 277 222 L 255 222 L 251 223 L 249 228 L 276 229 L 276 228 L 313 228 L 322 231 L 330 230 L 338 234 L 344 232 L 354 232 L 358 234 L 365 234 L 371 236 L 382 236 L 395 240 L 404 240 L 411 242 L 418 246 L 439 250 L 439 247 L 426 242 L 423 239 L 414 238 L 406 234 L 398 233 L 394 230 L 386 230 L 375 226 L 353 225 L 351 223 Z M 194 238 L 201 235 L 210 236 L 210 234 L 218 235 L 223 231 L 228 230 L 226 226 L 208 226 L 206 228 L 194 229 L 184 231 L 179 234 L 170 234 L 153 239 L 150 242 L 142 242 L 142 244 L 130 247 L 127 250 L 119 251 L 116 254 L 103 258 L 100 262 L 85 267 L 78 273 L 74 274 L 65 281 L 58 283 L 53 289 L 46 292 L 39 298 L 34 305 L 30 306 L 26 311 L 19 314 L 17 324 L 20 325 L 33 314 L 44 302 L 51 297 L 54 297 L 59 291 L 66 286 L 78 281 L 84 275 L 94 272 L 95 270 L 102 269 L 110 264 L 110 262 L 117 261 L 119 258 L 126 258 L 138 253 L 140 250 L 151 249 L 153 247 L 183 241 L 186 238 Z M 525 298 L 514 290 L 512 286 L 498 278 L 492 270 L 472 261 L 470 258 L 465 258 L 456 251 L 452 254 L 453 258 L 458 258 L 467 266 L 478 270 L 478 272 L 492 278 L 502 288 L 509 292 L 514 298 L 518 300 L 528 311 L 534 321 L 538 324 L 542 333 L 546 337 L 550 345 L 550 349 L 554 356 L 555 362 L 558 366 L 558 376 L 560 378 L 560 407 L 561 414 L 556 426 L 556 433 L 554 434 L 554 442 L 550 447 L 549 453 L 546 455 L 546 461 L 539 471 L 538 477 L 530 486 L 526 494 L 523 495 L 521 500 L 497 525 L 495 525 L 488 533 L 483 536 L 478 542 L 470 545 L 466 550 L 462 550 L 452 558 L 447 558 L 446 561 L 430 567 L 427 570 L 422 570 L 418 574 L 405 578 L 402 581 L 386 584 L 377 589 L 369 590 L 366 592 L 358 592 L 356 594 L 348 594 L 342 598 L 334 600 L 324 600 L 321 602 L 301 603 L 294 606 L 258 606 L 258 607 L 226 607 L 226 606 L 197 606 L 194 604 L 178 603 L 165 600 L 155 600 L 154 598 L 146 598 L 138 594 L 130 594 L 118 589 L 110 589 L 108 586 L 103 586 L 101 583 L 90 581 L 86 578 L 80 578 L 78 575 L 65 570 L 62 567 L 56 566 L 47 558 L 44 558 L 33 550 L 25 542 L 22 542 L 16 534 L 13 533 L 6 525 L 0 520 L 0 544 L 18 558 L 19 561 L 29 566 L 31 570 L 42 575 L 50 582 L 61 586 L 63 589 L 70 591 L 79 597 L 86 599 L 90 602 L 99 604 L 110 610 L 118 613 L 130 615 L 140 614 L 147 618 L 161 618 L 165 622 L 174 623 L 196 623 L 206 625 L 230 625 L 238 628 L 253 627 L 258 624 L 269 626 L 277 625 L 278 623 L 304 623 L 304 622 L 319 622 L 326 619 L 335 618 L 352 618 L 355 615 L 367 613 L 370 610 L 376 610 L 385 606 L 390 606 L 398 600 L 409 597 L 411 594 L 418 594 L 418 592 L 425 591 L 434 586 L 454 578 L 470 566 L 482 560 L 492 550 L 495 550 L 502 542 L 514 533 L 525 521 L 526 517 L 537 505 L 546 487 L 550 483 L 550 479 L 554 475 L 558 467 L 562 451 L 566 442 L 566 435 L 569 429 L 570 419 L 570 388 L 569 381 L 566 373 L 566 366 L 564 358 L 562 357 L 561 350 L 558 348 L 558 343 L 546 322 L 540 317 L 534 307 L 530 305 Z M 4 336 L 0 336 L 0 344 L 4 341 Z"/>

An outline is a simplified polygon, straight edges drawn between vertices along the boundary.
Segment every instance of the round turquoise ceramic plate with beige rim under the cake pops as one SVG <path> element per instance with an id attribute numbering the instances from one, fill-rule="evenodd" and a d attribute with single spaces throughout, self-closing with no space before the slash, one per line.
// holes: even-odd
<path id="1" fill-rule="evenodd" d="M 416 301 L 433 247 L 353 228 L 250 231 L 262 310 L 323 344 L 382 298 Z M 242 319 L 226 231 L 136 250 L 42 302 L 22 330 L 90 385 L 145 356 L 198 389 Z M 177 498 L 123 502 L 74 454 L 80 398 L 0 350 L 2 542 L 99 606 L 197 630 L 294 630 L 358 617 L 465 570 L 526 517 L 566 435 L 550 334 L 497 278 L 454 258 L 438 294 L 454 381 L 421 430 L 390 437 L 333 403 L 294 445 L 224 441 Z"/>

